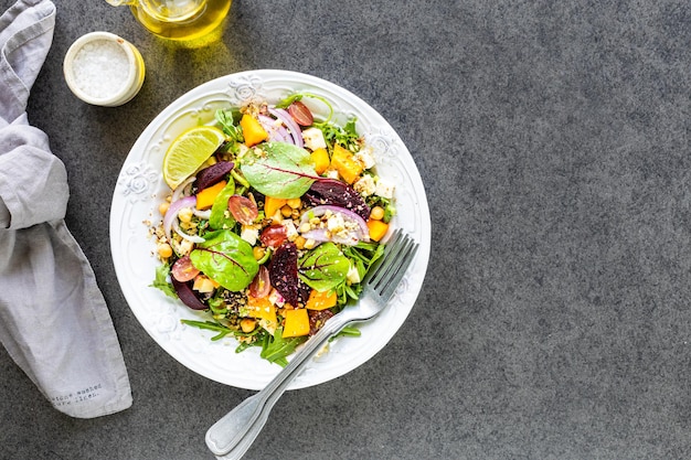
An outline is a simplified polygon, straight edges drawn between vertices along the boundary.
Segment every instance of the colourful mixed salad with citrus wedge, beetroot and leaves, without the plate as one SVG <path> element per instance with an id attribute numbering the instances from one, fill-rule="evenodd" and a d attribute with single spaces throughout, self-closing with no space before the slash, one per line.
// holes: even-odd
<path id="1" fill-rule="evenodd" d="M 220 109 L 163 158 L 152 286 L 203 312 L 183 323 L 281 366 L 358 300 L 395 215 L 394 185 L 378 176 L 357 119 L 339 126 L 332 114 L 309 93 Z"/>

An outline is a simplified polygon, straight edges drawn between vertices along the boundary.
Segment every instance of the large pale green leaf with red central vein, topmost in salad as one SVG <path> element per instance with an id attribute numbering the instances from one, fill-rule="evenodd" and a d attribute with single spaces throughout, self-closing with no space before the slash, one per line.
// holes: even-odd
<path id="1" fill-rule="evenodd" d="M 309 152 L 285 142 L 263 143 L 247 151 L 241 171 L 259 193 L 277 199 L 299 197 L 319 179 Z"/>

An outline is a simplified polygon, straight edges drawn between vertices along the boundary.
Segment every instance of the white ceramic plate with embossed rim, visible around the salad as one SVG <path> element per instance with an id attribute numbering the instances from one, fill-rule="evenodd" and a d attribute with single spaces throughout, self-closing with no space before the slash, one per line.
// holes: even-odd
<path id="1" fill-rule="evenodd" d="M 262 360 L 258 347 L 235 353 L 234 339 L 212 342 L 212 332 L 180 322 L 183 318 L 208 318 L 149 287 L 158 263 L 148 228 L 160 221 L 158 205 L 169 192 L 161 163 L 172 139 L 200 120 L 213 122 L 219 108 L 238 107 L 249 99 L 273 104 L 296 92 L 327 98 L 334 108 L 334 121 L 341 126 L 349 117 L 358 118 L 358 132 L 375 149 L 378 173 L 396 184 L 398 214 L 392 221 L 392 228 L 403 227 L 419 242 L 421 248 L 392 304 L 375 320 L 360 324 L 361 336 L 332 341 L 328 351 L 310 362 L 290 388 L 330 381 L 374 356 L 407 318 L 429 259 L 429 210 L 413 158 L 386 120 L 353 94 L 305 74 L 251 71 L 208 82 L 180 97 L 145 129 L 125 160 L 110 208 L 113 260 L 125 298 L 151 338 L 190 370 L 241 388 L 263 388 L 280 367 Z M 326 106 L 315 99 L 304 100 L 316 118 L 325 118 Z"/>

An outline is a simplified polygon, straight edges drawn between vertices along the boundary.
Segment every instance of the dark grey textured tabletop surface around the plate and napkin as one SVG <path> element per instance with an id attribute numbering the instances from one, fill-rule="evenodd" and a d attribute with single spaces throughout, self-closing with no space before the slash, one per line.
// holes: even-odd
<path id="1" fill-rule="evenodd" d="M 115 279 L 108 213 L 147 124 L 188 89 L 253 68 L 312 74 L 378 109 L 425 181 L 433 247 L 391 343 L 285 395 L 246 458 L 691 457 L 688 2 L 235 0 L 222 41 L 200 50 L 105 1 L 56 4 L 29 116 L 66 164 L 67 225 L 135 403 L 62 416 L 2 351 L 0 458 L 212 458 L 206 428 L 252 393 L 198 376 L 147 335 Z M 147 62 L 120 108 L 79 103 L 62 78 L 67 47 L 94 30 Z"/>

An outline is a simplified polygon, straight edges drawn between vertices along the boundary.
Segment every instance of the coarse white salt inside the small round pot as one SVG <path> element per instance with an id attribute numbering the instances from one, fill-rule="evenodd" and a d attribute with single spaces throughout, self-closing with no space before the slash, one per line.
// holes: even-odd
<path id="1" fill-rule="evenodd" d="M 76 85 L 97 99 L 113 97 L 123 90 L 129 76 L 125 50 L 113 41 L 97 40 L 84 44 L 74 57 Z"/>

